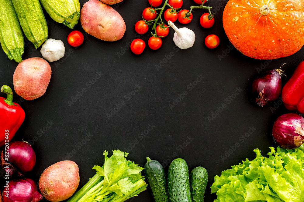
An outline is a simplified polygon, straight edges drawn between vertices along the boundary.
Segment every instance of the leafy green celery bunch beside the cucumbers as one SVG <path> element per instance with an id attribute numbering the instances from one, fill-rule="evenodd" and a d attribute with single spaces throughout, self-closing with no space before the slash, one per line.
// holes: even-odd
<path id="1" fill-rule="evenodd" d="M 100 177 L 95 175 L 67 202 L 123 202 L 147 189 L 143 167 L 127 161 L 129 153 L 114 150 L 111 157 L 106 151 L 103 154 L 104 165 L 93 167 Z"/>

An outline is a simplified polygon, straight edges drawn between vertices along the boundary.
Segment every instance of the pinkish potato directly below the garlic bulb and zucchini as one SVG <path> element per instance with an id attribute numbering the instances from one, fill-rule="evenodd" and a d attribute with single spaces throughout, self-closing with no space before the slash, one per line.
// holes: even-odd
<path id="1" fill-rule="evenodd" d="M 39 98 L 47 90 L 51 74 L 51 67 L 43 58 L 23 60 L 13 75 L 14 90 L 26 100 Z"/>

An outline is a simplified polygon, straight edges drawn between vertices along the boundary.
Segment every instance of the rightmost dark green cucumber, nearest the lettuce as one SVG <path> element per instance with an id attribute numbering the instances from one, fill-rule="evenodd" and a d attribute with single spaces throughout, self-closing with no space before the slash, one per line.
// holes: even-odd
<path id="1" fill-rule="evenodd" d="M 193 202 L 203 202 L 208 182 L 208 172 L 203 167 L 196 167 L 190 173 L 190 190 Z"/>

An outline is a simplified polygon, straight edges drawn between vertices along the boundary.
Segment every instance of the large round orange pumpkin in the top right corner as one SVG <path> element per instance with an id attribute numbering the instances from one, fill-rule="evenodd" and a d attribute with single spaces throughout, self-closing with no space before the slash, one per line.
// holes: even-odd
<path id="1" fill-rule="evenodd" d="M 304 1 L 229 0 L 223 27 L 244 55 L 256 59 L 286 57 L 304 45 Z"/>

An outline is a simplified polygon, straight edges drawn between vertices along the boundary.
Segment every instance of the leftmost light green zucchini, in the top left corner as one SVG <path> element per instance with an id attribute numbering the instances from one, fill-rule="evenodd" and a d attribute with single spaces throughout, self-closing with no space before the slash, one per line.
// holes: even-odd
<path id="1" fill-rule="evenodd" d="M 0 0 L 0 43 L 10 60 L 22 62 L 24 38 L 11 0 Z"/>

